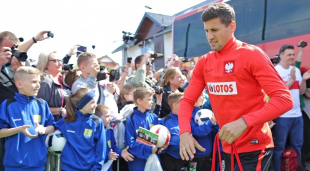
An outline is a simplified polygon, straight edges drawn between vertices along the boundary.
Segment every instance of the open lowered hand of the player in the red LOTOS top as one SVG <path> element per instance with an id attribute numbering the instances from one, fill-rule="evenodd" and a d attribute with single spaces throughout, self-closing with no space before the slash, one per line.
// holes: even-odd
<path id="1" fill-rule="evenodd" d="M 197 141 L 194 139 L 189 132 L 183 132 L 180 136 L 180 156 L 184 160 L 189 160 L 188 155 L 190 158 L 194 157 L 194 153 L 196 153 L 195 147 L 198 148 L 200 151 L 205 151 Z"/>

